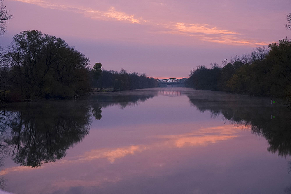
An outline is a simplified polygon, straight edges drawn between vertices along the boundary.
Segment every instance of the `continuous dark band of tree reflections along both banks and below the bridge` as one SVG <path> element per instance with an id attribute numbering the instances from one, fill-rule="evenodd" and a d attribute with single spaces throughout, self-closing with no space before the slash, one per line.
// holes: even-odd
<path id="1" fill-rule="evenodd" d="M 187 91 L 187 90 L 186 90 Z M 268 151 L 280 156 L 291 155 L 290 114 L 278 111 L 276 119 L 269 119 L 269 108 L 263 101 L 249 97 L 224 94 L 205 98 L 185 93 L 185 90 L 153 90 L 150 93 L 118 93 L 92 96 L 81 103 L 62 101 L 25 103 L 0 111 L 1 158 L 8 150 L 13 161 L 22 166 L 38 167 L 42 162 L 55 162 L 65 156 L 66 150 L 88 135 L 91 114 L 96 120 L 102 118 L 102 108 L 136 106 L 157 95 L 187 95 L 192 106 L 200 112 L 210 111 L 212 118 L 223 118 L 241 127 L 250 127 L 252 133 L 268 140 Z M 251 105 L 251 106 L 250 106 Z M 196 137 L 195 137 L 196 138 Z M 186 139 L 189 140 L 189 137 Z M 193 139 L 193 138 L 192 138 Z M 197 142 L 193 139 L 193 143 Z M 188 142 L 189 143 L 189 142 Z M 191 142 L 190 142 L 191 143 Z M 193 144 L 192 143 L 192 144 Z M 0 158 L 0 159 L 1 159 Z"/>

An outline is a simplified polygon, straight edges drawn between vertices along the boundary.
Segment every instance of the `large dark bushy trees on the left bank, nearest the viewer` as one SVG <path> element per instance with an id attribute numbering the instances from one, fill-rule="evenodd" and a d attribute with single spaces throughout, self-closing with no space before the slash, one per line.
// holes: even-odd
<path id="1" fill-rule="evenodd" d="M 0 95 L 4 101 L 86 95 L 89 65 L 89 58 L 63 39 L 23 31 L 1 52 Z"/>

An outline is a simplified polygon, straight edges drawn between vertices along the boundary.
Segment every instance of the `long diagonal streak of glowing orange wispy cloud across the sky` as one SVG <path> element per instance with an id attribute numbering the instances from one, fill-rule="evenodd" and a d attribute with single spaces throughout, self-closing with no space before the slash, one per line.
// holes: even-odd
<path id="1" fill-rule="evenodd" d="M 220 29 L 216 26 L 210 26 L 208 24 L 183 23 L 183 22 L 175 23 L 171 21 L 158 23 L 155 21 L 146 21 L 142 17 L 136 17 L 134 14 L 127 14 L 125 12 L 118 11 L 113 6 L 104 11 L 95 10 L 84 6 L 72 6 L 70 4 L 62 4 L 58 1 L 43 1 L 43 0 L 13 0 L 13 1 L 30 3 L 43 8 L 75 12 L 94 20 L 116 20 L 129 23 L 146 24 L 152 27 L 154 26 L 156 30 L 148 31 L 150 33 L 176 34 L 189 37 L 189 39 L 216 42 L 229 45 L 265 46 L 269 43 L 257 39 L 246 38 L 246 36 L 243 35 L 242 33 Z"/>

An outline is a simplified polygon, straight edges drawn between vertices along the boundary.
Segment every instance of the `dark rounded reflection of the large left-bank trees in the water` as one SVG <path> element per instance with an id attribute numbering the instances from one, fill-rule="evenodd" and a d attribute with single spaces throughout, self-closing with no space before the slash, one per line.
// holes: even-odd
<path id="1" fill-rule="evenodd" d="M 13 161 L 38 167 L 55 162 L 66 150 L 88 135 L 90 107 L 86 103 L 36 102 L 1 110 L 1 145 Z"/>

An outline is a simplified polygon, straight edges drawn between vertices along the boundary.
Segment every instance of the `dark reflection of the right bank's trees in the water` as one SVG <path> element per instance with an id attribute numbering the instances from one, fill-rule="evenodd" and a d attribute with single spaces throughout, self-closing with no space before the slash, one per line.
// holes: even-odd
<path id="1" fill-rule="evenodd" d="M 191 95 L 188 97 L 191 105 L 200 112 L 210 111 L 214 118 L 222 115 L 231 124 L 248 127 L 252 133 L 265 137 L 269 152 L 282 157 L 291 155 L 291 112 L 286 107 L 278 105 L 275 108 L 276 119 L 271 119 L 271 109 L 265 106 L 267 99 L 229 95 L 230 98 L 212 101 Z"/>

